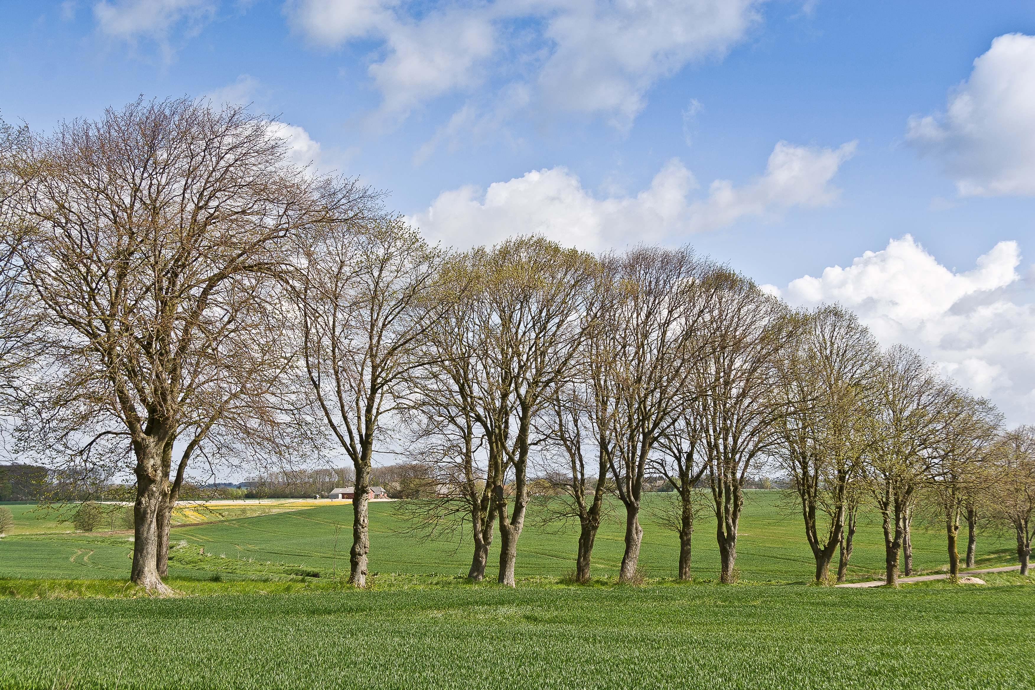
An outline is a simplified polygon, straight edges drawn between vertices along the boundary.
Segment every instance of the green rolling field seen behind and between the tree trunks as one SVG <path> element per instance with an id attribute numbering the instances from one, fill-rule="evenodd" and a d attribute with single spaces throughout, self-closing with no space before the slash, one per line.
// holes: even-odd
<path id="1" fill-rule="evenodd" d="M 658 528 L 651 515 L 659 496 L 645 502 L 644 541 L 640 563 L 651 578 L 675 576 L 679 554 L 675 534 Z M 470 565 L 470 539 L 464 544 L 420 542 L 400 534 L 393 503 L 371 504 L 369 569 L 377 573 L 466 575 Z M 534 506 L 530 518 L 534 518 Z M 337 549 L 334 526 L 341 526 Z M 170 560 L 173 576 L 209 577 L 214 573 L 233 579 L 284 576 L 295 570 L 330 577 L 348 570 L 351 545 L 350 504 L 295 510 L 274 515 L 231 519 L 200 527 L 175 528 L 177 545 Z M 594 576 L 617 576 L 622 558 L 623 526 L 616 517 L 597 536 L 593 552 Z M 574 567 L 578 534 L 573 529 L 557 534 L 537 528 L 530 519 L 519 542 L 518 576 L 561 577 Z M 206 557 L 199 551 L 204 548 Z M 0 577 L 126 578 L 132 541 L 119 535 L 14 535 L 0 540 Z M 815 565 L 800 517 L 780 507 L 775 491 L 750 491 L 737 544 L 741 577 L 752 581 L 807 581 Z M 948 563 L 945 537 L 936 528 L 917 524 L 913 536 L 914 565 L 936 571 Z M 336 557 L 335 557 L 336 553 Z M 491 557 L 495 570 L 497 548 Z M 995 533 L 978 540 L 978 564 L 994 567 L 1015 562 L 1011 541 Z M 879 576 L 884 567 L 880 522 L 869 515 L 856 535 L 850 577 Z M 287 572 L 292 571 L 292 572 Z M 694 532 L 693 571 L 698 578 L 716 577 L 718 549 L 714 519 L 700 519 Z"/>

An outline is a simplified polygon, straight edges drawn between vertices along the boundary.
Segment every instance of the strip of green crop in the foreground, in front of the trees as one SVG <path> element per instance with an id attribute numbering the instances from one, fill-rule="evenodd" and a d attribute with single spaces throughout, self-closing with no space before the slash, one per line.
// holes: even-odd
<path id="1" fill-rule="evenodd" d="M 703 584 L 4 599 L 0 638 L 4 688 L 1003 688 L 1030 680 L 1035 597 Z"/>

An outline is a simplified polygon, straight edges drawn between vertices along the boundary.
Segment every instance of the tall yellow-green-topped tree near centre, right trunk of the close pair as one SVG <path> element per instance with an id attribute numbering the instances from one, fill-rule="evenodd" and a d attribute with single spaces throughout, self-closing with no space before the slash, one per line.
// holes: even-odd
<path id="1" fill-rule="evenodd" d="M 478 356 L 481 376 L 475 378 L 476 419 L 487 446 L 486 480 L 499 521 L 499 581 L 513 587 L 529 501 L 533 421 L 596 326 L 580 317 L 592 303 L 598 266 L 590 254 L 538 237 L 475 250 L 471 265 L 482 276 L 474 327 L 486 336 Z"/>

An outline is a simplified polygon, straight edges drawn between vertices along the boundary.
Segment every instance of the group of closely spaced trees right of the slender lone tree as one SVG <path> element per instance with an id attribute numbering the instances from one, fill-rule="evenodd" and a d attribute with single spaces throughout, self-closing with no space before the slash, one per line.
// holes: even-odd
<path id="1" fill-rule="evenodd" d="M 462 261 L 518 245 L 536 241 Z M 883 518 L 889 583 L 900 556 L 912 574 L 918 510 L 944 522 L 952 575 L 960 519 L 973 566 L 979 513 L 1015 531 L 1027 573 L 1035 429 L 1004 432 L 987 400 L 913 351 L 882 351 L 840 307 L 792 310 L 687 249 L 596 258 L 587 267 L 591 291 L 565 293 L 575 297 L 569 308 L 557 292 L 565 278 L 544 266 L 539 278 L 524 259 L 508 267 L 505 274 L 521 282 L 492 280 L 480 266 L 476 273 L 490 280 L 461 291 L 467 300 L 426 334 L 432 353 L 407 400 L 411 449 L 452 490 L 398 512 L 424 536 L 470 530 L 471 578 L 484 576 L 498 524 L 499 579 L 513 582 L 530 453 L 552 492 L 566 497 L 543 502 L 540 518 L 579 524 L 579 581 L 590 578 L 611 497 L 625 512 L 620 578 L 635 578 L 647 473 L 667 477 L 679 497 L 663 518 L 679 535 L 679 577 L 690 578 L 694 517 L 706 508 L 716 519 L 720 577 L 733 581 L 745 483 L 765 464 L 789 480 L 819 582 L 845 579 L 864 505 Z M 537 295 L 536 284 L 550 291 Z M 533 337 L 540 333 L 556 335 Z"/>

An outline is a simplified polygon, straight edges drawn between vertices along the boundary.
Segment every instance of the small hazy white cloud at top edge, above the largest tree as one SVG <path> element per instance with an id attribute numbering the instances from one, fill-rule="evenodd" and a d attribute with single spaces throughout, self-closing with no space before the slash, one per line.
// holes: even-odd
<path id="1" fill-rule="evenodd" d="M 188 32 L 197 31 L 215 13 L 216 4 L 214 0 L 101 0 L 93 5 L 93 14 L 109 36 L 129 42 L 153 38 L 168 49 L 173 27 L 183 23 Z"/>

